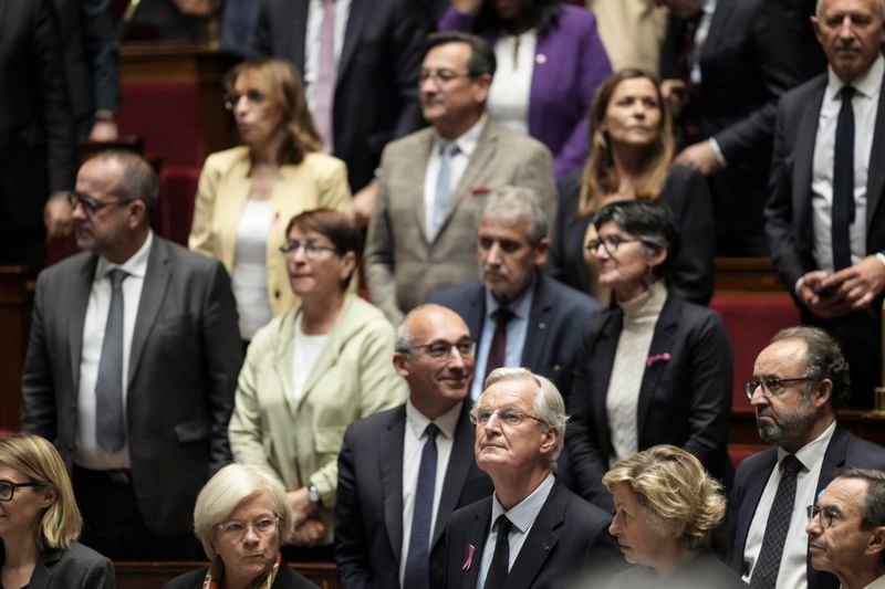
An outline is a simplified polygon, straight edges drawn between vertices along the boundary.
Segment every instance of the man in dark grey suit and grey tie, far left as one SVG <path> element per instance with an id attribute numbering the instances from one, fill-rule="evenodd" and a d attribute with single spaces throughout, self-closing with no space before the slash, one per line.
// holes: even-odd
<path id="1" fill-rule="evenodd" d="M 153 234 L 157 192 L 134 154 L 81 167 L 69 200 L 88 251 L 40 274 L 22 378 L 22 429 L 56 445 L 82 541 L 114 560 L 195 557 L 242 361 L 223 266 Z"/>

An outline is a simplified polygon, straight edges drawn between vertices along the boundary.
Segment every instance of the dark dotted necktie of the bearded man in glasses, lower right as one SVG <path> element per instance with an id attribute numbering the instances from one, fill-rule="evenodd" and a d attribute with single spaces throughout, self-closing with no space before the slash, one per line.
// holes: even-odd
<path id="1" fill-rule="evenodd" d="M 790 454 L 783 459 L 781 469 L 781 481 L 778 483 L 778 492 L 774 494 L 774 502 L 768 514 L 759 560 L 750 579 L 752 589 L 773 588 L 778 582 L 783 543 L 787 539 L 787 532 L 790 529 L 790 518 L 793 515 L 793 503 L 795 503 L 795 478 L 802 469 L 802 463 L 793 454 Z"/>

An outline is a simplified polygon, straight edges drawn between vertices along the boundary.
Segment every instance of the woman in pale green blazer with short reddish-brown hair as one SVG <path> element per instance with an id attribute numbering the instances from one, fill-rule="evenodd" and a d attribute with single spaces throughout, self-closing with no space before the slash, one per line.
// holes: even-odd
<path id="1" fill-rule="evenodd" d="M 354 221 L 303 212 L 285 235 L 281 250 L 301 302 L 252 339 L 228 433 L 237 462 L 270 466 L 285 484 L 295 543 L 319 547 L 287 556 L 331 560 L 344 430 L 404 402 L 406 383 L 393 366 L 393 326 L 346 292 L 362 239 Z"/>

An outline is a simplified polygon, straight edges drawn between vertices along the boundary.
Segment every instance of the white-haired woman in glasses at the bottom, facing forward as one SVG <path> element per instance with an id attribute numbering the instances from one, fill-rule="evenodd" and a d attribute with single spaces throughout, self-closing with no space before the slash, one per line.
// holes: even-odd
<path id="1" fill-rule="evenodd" d="M 229 464 L 206 483 L 194 508 L 194 532 L 211 564 L 164 588 L 315 588 L 280 555 L 291 529 L 292 509 L 273 473 L 263 466 Z"/>

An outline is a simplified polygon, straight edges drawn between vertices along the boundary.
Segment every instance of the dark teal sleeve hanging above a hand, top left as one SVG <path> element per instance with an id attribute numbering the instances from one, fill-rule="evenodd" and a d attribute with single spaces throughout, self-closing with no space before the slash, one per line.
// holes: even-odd
<path id="1" fill-rule="evenodd" d="M 81 0 L 83 38 L 93 75 L 96 111 L 116 112 L 117 35 L 108 0 Z"/>

